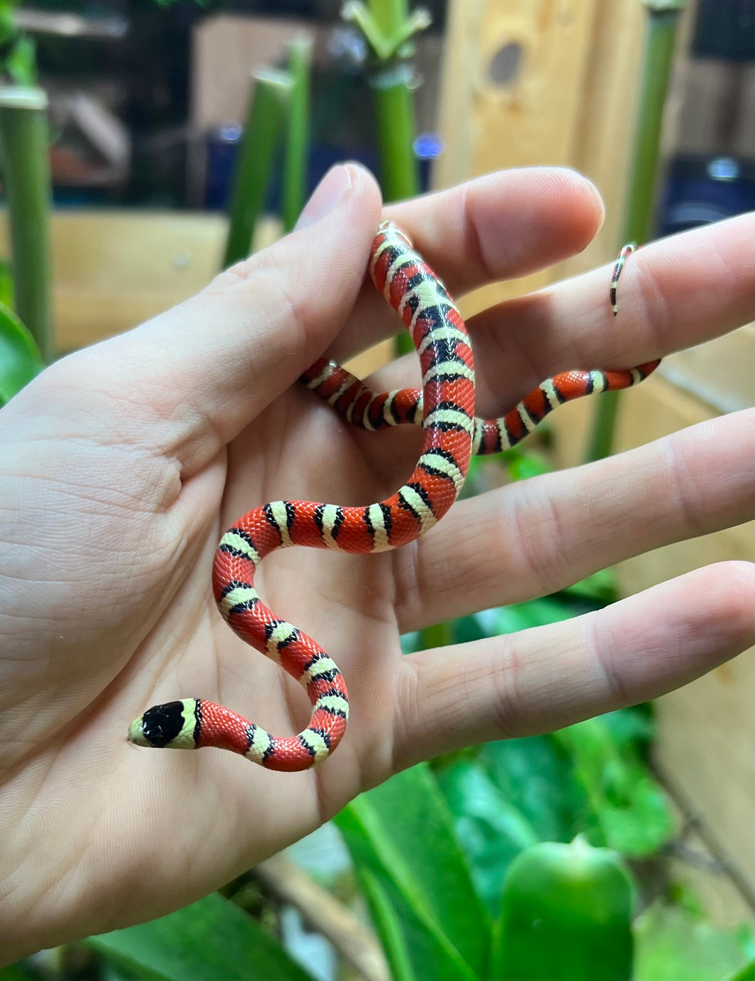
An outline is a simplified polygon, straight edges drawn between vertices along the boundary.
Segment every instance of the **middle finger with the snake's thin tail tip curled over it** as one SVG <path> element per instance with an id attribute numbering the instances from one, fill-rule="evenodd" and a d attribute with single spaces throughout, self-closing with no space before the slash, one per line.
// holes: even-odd
<path id="1" fill-rule="evenodd" d="M 747 323 L 754 233 L 755 214 L 740 215 L 643 247 L 622 274 L 616 318 L 610 266 L 472 317 L 478 414 L 499 414 L 559 371 L 633 367 Z"/>

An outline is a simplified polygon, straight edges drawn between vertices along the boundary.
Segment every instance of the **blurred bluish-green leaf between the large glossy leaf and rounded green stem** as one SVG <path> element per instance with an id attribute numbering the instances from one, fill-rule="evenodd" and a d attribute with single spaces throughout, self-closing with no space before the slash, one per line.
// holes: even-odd
<path id="1" fill-rule="evenodd" d="M 507 868 L 519 852 L 539 841 L 538 835 L 477 759 L 455 759 L 434 772 L 454 815 L 456 837 L 469 859 L 478 894 L 496 916 Z"/>

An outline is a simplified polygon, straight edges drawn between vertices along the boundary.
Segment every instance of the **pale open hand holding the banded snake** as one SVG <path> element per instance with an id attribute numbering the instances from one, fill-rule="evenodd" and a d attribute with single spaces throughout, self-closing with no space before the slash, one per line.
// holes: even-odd
<path id="1" fill-rule="evenodd" d="M 399 647 L 406 631 L 747 520 L 755 427 L 740 412 L 457 503 L 396 552 L 266 559 L 260 593 L 349 687 L 346 736 L 322 767 L 271 773 L 220 750 L 126 742 L 134 716 L 176 697 L 224 702 L 279 735 L 309 718 L 296 683 L 223 623 L 210 571 L 251 507 L 369 503 L 416 461 L 419 433 L 354 431 L 292 387 L 325 351 L 343 360 L 394 333 L 363 284 L 380 214 L 375 182 L 335 169 L 299 231 L 62 360 L 0 412 L 0 962 L 176 909 L 419 760 L 660 696 L 752 643 L 753 569 L 732 561 L 566 623 Z M 537 170 L 383 215 L 458 297 L 579 251 L 602 206 L 577 175 Z M 641 250 L 617 320 L 608 266 L 471 318 L 478 414 L 559 370 L 628 367 L 745 323 L 752 236 L 744 216 Z M 373 387 L 415 372 L 405 361 Z"/>

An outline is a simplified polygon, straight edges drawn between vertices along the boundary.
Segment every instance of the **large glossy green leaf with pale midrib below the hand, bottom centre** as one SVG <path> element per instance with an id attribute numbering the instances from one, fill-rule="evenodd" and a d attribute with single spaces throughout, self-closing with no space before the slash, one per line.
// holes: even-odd
<path id="1" fill-rule="evenodd" d="M 427 764 L 399 773 L 335 818 L 354 863 L 376 876 L 414 970 L 436 981 L 483 976 L 490 919 Z"/>

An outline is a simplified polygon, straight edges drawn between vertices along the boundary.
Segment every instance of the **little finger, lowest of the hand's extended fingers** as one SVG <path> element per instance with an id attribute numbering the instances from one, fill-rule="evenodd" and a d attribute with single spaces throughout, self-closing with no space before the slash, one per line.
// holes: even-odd
<path id="1" fill-rule="evenodd" d="M 402 661 L 393 764 L 656 698 L 753 639 L 755 568 L 722 562 L 574 620 Z"/>

